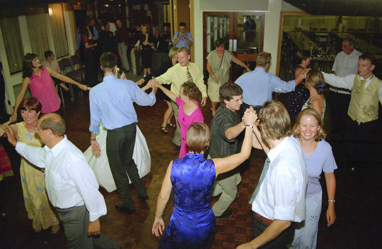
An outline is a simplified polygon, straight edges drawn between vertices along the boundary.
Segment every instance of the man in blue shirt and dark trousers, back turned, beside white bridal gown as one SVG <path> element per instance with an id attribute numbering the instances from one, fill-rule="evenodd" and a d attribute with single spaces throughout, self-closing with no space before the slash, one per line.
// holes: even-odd
<path id="1" fill-rule="evenodd" d="M 104 70 L 104 81 L 89 92 L 92 153 L 96 157 L 100 155 L 100 147 L 95 136 L 100 132 L 99 125 L 102 121 L 102 125 L 107 128 L 107 159 L 115 186 L 123 201 L 123 204 L 115 205 L 115 209 L 133 215 L 135 207 L 130 196 L 129 178 L 136 188 L 138 197 L 143 201 L 149 200 L 133 159 L 135 123 L 138 121 L 133 102 L 142 106 L 154 105 L 157 88 L 153 87 L 152 92 L 146 94 L 133 81 L 117 79 L 115 77 L 117 57 L 113 53 L 104 53 L 100 63 Z"/>

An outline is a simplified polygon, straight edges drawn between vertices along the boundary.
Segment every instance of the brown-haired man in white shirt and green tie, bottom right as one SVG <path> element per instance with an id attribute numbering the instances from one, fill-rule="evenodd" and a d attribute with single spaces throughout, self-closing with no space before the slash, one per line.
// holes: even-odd
<path id="1" fill-rule="evenodd" d="M 254 239 L 236 249 L 286 248 L 293 240 L 293 223 L 305 220 L 308 173 L 304 153 L 291 136 L 290 118 L 281 102 L 265 101 L 257 125 L 253 147 L 264 149 L 268 157 L 249 201 Z"/>

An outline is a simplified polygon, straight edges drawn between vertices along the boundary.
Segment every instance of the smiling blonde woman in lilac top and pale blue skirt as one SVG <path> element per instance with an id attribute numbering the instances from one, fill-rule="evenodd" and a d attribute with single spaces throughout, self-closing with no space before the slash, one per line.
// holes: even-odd
<path id="1" fill-rule="evenodd" d="M 306 218 L 295 230 L 293 249 L 316 249 L 318 222 L 322 209 L 322 188 L 319 183 L 324 171 L 328 194 L 328 209 L 326 211 L 327 226 L 335 222 L 334 196 L 336 181 L 334 170 L 337 169 L 332 147 L 324 140 L 326 134 L 322 129 L 319 113 L 313 108 L 300 112 L 293 132 L 304 151 L 308 171 L 308 188 L 306 189 Z M 326 205 L 325 205 L 326 206 Z"/>

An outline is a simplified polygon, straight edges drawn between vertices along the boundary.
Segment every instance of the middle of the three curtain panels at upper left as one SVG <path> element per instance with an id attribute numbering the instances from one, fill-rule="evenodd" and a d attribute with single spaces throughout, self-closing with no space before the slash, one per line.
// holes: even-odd
<path id="1" fill-rule="evenodd" d="M 29 38 L 31 39 L 32 53 L 39 55 L 39 60 L 45 60 L 44 52 L 49 49 L 48 27 L 45 20 L 44 8 L 26 9 Z"/>

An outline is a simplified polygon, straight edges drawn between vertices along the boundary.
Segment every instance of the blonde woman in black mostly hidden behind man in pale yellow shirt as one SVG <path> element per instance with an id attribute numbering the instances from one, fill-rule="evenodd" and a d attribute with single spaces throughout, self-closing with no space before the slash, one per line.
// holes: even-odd
<path id="1" fill-rule="evenodd" d="M 170 60 L 168 60 L 166 62 L 163 62 L 162 66 L 160 66 L 160 68 L 158 68 L 158 70 L 155 70 L 154 72 L 152 72 L 151 74 L 148 74 L 143 79 L 140 79 L 137 82 L 137 84 L 140 86 L 143 83 L 147 83 L 150 79 L 152 79 L 152 77 L 155 78 L 155 77 L 158 77 L 158 76 L 166 73 L 169 68 L 171 68 L 172 66 L 174 66 L 176 64 L 176 61 L 178 60 L 178 58 L 176 58 L 176 53 L 178 52 L 178 49 L 179 48 L 177 48 L 177 47 L 172 47 L 170 49 L 170 52 L 168 53 L 168 57 L 170 58 Z M 165 84 L 163 86 L 166 87 L 168 90 L 171 89 L 171 84 Z M 160 130 L 162 131 L 162 133 L 163 134 L 167 134 L 168 133 L 167 125 L 169 125 L 171 127 L 175 127 L 176 126 L 176 125 L 171 123 L 171 118 L 174 115 L 174 112 L 173 112 L 172 106 L 171 106 L 171 100 L 160 89 L 157 90 L 157 97 L 159 97 L 160 99 L 164 100 L 167 103 L 167 106 L 168 106 L 168 108 L 167 108 L 167 110 L 165 112 L 165 115 L 163 116 L 163 123 L 160 126 Z"/>

